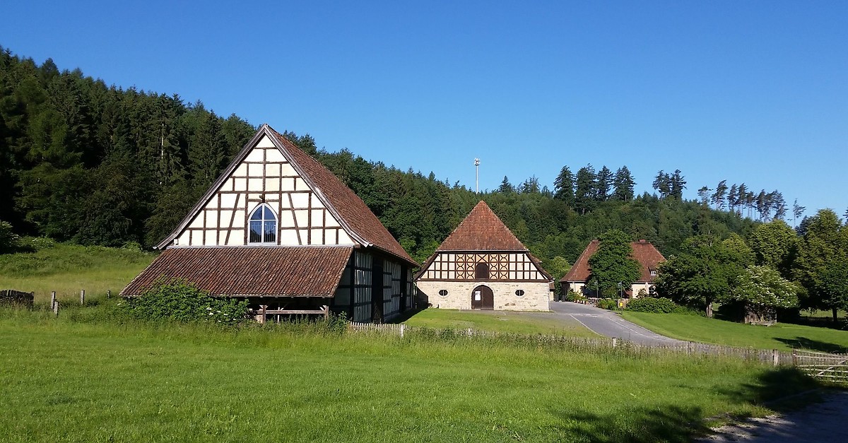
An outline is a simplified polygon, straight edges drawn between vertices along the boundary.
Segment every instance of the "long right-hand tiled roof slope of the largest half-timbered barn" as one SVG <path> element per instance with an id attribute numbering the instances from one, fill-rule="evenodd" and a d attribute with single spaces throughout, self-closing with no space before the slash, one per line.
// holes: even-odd
<path id="1" fill-rule="evenodd" d="M 318 160 L 313 159 L 310 154 L 298 149 L 286 137 L 282 137 L 279 132 L 274 131 L 271 127 L 268 127 L 268 129 L 276 137 L 276 141 L 284 151 L 283 154 L 286 158 L 295 167 L 299 166 L 299 169 L 303 171 L 304 180 L 310 183 L 310 186 L 316 192 L 323 194 L 328 200 L 328 207 L 338 213 L 339 221 L 349 227 L 354 236 L 358 235 L 365 240 L 367 243 L 365 246 L 373 245 L 377 249 L 396 255 L 411 265 L 418 266 L 418 263 L 412 260 L 412 257 L 406 253 L 398 240 L 388 232 L 380 219 L 371 212 L 368 205 L 365 205 L 365 202 L 354 191 L 350 190 Z"/>

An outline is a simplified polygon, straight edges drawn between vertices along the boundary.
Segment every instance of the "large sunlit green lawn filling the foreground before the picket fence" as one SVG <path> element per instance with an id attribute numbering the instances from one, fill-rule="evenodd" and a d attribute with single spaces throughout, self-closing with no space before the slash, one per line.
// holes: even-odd
<path id="1" fill-rule="evenodd" d="M 0 440 L 683 442 L 704 418 L 762 415 L 815 386 L 790 369 L 622 348 L 65 312 L 0 313 Z"/>

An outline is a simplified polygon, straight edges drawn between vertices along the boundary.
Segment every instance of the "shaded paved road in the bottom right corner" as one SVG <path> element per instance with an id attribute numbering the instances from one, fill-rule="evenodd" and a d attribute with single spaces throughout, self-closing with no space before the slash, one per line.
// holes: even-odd
<path id="1" fill-rule="evenodd" d="M 835 392 L 821 403 L 801 411 L 716 429 L 717 434 L 696 440 L 699 443 L 745 441 L 747 443 L 801 443 L 848 441 L 848 391 Z"/>

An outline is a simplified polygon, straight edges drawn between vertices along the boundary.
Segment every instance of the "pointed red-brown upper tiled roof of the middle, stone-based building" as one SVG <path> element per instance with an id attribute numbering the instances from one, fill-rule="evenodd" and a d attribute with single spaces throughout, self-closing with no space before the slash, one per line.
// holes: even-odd
<path id="1" fill-rule="evenodd" d="M 481 200 L 437 250 L 527 251 L 527 248 Z"/>

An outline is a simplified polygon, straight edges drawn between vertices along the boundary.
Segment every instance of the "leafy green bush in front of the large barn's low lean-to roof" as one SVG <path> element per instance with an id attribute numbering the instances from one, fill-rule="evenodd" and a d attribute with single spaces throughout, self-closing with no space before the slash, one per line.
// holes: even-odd
<path id="1" fill-rule="evenodd" d="M 247 300 L 213 297 L 181 279 L 160 278 L 153 287 L 122 306 L 140 320 L 176 322 L 215 322 L 234 325 L 247 317 Z"/>

